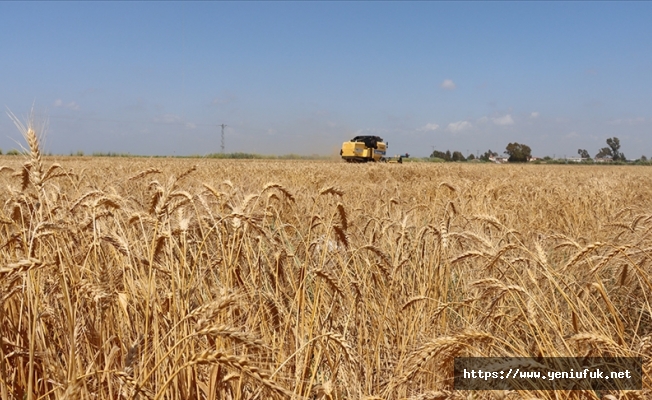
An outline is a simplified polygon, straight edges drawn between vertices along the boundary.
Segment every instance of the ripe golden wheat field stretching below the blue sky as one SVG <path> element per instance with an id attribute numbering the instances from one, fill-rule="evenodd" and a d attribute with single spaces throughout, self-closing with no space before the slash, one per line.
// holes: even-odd
<path id="1" fill-rule="evenodd" d="M 645 167 L 0 157 L 5 399 L 649 398 Z M 454 391 L 456 356 L 643 391 Z M 601 397 L 605 396 L 607 397 Z"/>

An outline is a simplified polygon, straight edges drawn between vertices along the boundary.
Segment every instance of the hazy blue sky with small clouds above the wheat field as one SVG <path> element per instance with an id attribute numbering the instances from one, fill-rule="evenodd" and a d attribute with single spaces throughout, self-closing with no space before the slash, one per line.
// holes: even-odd
<path id="1" fill-rule="evenodd" d="M 0 2 L 0 101 L 67 154 L 652 156 L 652 2 Z M 20 134 L 0 116 L 0 148 Z"/>

